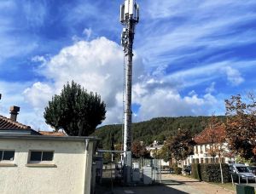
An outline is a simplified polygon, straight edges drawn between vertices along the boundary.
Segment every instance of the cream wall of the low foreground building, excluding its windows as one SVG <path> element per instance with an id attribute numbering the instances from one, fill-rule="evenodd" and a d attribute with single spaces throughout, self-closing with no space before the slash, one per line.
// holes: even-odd
<path id="1" fill-rule="evenodd" d="M 84 141 L 0 140 L 0 149 L 15 150 L 15 167 L 0 163 L 0 193 L 89 193 L 84 183 L 90 185 L 92 147 L 91 141 L 89 151 L 85 151 Z M 55 167 L 26 166 L 29 150 L 55 151 Z M 89 177 L 85 178 L 86 174 Z"/>

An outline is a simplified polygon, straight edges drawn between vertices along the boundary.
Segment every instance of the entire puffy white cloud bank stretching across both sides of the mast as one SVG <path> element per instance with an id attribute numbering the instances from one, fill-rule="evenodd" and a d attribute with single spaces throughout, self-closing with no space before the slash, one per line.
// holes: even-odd
<path id="1" fill-rule="evenodd" d="M 44 111 L 44 106 L 54 94 L 60 94 L 67 82 L 74 80 L 88 91 L 101 94 L 107 105 L 104 123 L 121 123 L 123 118 L 123 52 L 122 48 L 105 37 L 90 42 L 79 41 L 62 48 L 49 60 L 42 60 L 40 73 L 49 80 L 33 83 L 23 95 L 35 111 Z M 151 117 L 204 115 L 216 102 L 211 94 L 199 97 L 193 93 L 181 96 L 178 84 L 159 74 L 144 73 L 143 60 L 135 54 L 133 74 L 133 102 L 140 108 L 136 119 Z"/>

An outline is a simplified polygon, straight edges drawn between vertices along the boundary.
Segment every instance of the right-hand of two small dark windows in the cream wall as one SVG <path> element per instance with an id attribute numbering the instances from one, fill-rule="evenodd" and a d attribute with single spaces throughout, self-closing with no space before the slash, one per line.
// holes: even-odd
<path id="1" fill-rule="evenodd" d="M 53 161 L 54 151 L 30 151 L 30 163 Z"/>

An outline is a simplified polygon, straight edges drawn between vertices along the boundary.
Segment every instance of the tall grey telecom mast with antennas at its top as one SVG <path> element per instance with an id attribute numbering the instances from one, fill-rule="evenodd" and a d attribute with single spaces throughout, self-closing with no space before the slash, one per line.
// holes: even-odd
<path id="1" fill-rule="evenodd" d="M 139 21 L 139 7 L 136 0 L 125 0 L 120 6 L 120 22 L 123 26 L 121 43 L 125 54 L 125 127 L 124 127 L 124 176 L 131 182 L 131 83 L 132 83 L 132 45 L 135 26 Z"/>

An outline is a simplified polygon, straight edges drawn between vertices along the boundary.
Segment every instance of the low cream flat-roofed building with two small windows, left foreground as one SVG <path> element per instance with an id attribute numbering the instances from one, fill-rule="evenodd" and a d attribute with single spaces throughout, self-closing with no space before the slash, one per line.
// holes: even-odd
<path id="1" fill-rule="evenodd" d="M 90 194 L 96 141 L 91 137 L 0 135 L 0 193 Z"/>

